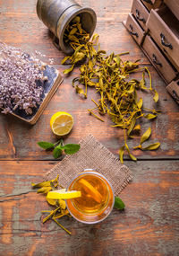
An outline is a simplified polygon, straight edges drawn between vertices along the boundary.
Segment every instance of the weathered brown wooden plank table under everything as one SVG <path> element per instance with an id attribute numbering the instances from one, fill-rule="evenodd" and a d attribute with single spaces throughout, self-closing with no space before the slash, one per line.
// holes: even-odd
<path id="1" fill-rule="evenodd" d="M 46 55 L 40 58 L 48 64 L 49 58 L 54 58 L 54 66 L 62 73 L 64 53 L 55 49 L 50 33 L 38 20 L 36 2 L 0 1 L 0 40 L 29 53 L 38 50 Z M 74 92 L 72 78 L 77 69 L 64 78 L 35 126 L 1 114 L 0 255 L 179 255 L 179 106 L 166 93 L 166 84 L 124 29 L 122 21 L 130 12 L 132 0 L 78 2 L 97 13 L 96 32 L 102 49 L 108 53 L 130 51 L 124 59 L 141 58 L 141 65 L 149 66 L 162 113 L 142 127 L 145 130 L 150 123 L 151 141 L 160 141 L 161 147 L 156 152 L 133 152 L 137 163 L 125 157 L 133 180 L 120 195 L 126 205 L 123 212 L 114 210 L 98 225 L 64 219 L 62 224 L 72 231 L 69 236 L 55 223 L 41 222 L 40 211 L 47 209 L 47 203 L 31 190 L 30 182 L 41 181 L 58 161 L 40 150 L 37 142 L 55 141 L 49 120 L 57 110 L 70 112 L 74 117 L 66 143 L 77 143 L 91 133 L 117 156 L 124 144 L 123 131 L 110 127 L 109 119 L 101 123 L 89 115 L 87 109 L 93 107 L 90 99 L 98 95 L 91 89 L 88 99 L 83 100 Z M 150 97 L 146 96 L 145 104 L 151 105 Z M 130 141 L 131 147 L 136 144 L 136 140 Z"/>

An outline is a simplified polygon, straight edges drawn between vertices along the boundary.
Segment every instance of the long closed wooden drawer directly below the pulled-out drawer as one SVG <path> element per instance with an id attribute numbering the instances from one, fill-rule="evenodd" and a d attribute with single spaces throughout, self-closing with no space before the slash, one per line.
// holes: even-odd
<path id="1" fill-rule="evenodd" d="M 170 83 L 175 78 L 177 71 L 166 57 L 164 57 L 156 43 L 149 36 L 145 37 L 142 49 L 144 49 L 152 65 L 158 70 L 158 73 L 164 77 L 166 83 Z"/>

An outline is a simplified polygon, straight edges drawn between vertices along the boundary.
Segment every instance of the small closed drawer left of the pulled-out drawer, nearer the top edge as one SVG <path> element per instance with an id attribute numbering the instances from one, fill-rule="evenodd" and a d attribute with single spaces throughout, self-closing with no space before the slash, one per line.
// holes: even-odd
<path id="1" fill-rule="evenodd" d="M 147 31 L 146 22 L 149 17 L 149 11 L 147 8 L 141 3 L 140 0 L 133 0 L 132 4 L 132 14 L 135 19 L 140 23 L 142 29 Z"/>

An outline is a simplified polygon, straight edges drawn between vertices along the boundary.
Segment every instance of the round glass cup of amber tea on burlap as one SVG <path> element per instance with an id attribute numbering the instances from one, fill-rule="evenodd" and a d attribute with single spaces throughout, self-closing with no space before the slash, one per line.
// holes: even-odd
<path id="1" fill-rule="evenodd" d="M 94 170 L 77 174 L 66 190 L 81 191 L 81 197 L 66 199 L 66 205 L 70 214 L 82 223 L 98 223 L 107 218 L 114 207 L 115 195 L 110 182 Z"/>

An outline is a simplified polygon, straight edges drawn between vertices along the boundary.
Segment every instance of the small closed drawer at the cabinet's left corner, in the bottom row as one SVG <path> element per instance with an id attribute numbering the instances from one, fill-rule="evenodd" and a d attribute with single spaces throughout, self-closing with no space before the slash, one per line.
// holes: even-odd
<path id="1" fill-rule="evenodd" d="M 132 16 L 132 13 L 129 13 L 127 16 L 127 21 L 125 22 L 125 27 L 132 35 L 132 38 L 141 45 L 141 42 L 144 38 L 144 31 L 142 30 L 140 24 L 135 21 L 135 18 Z"/>

